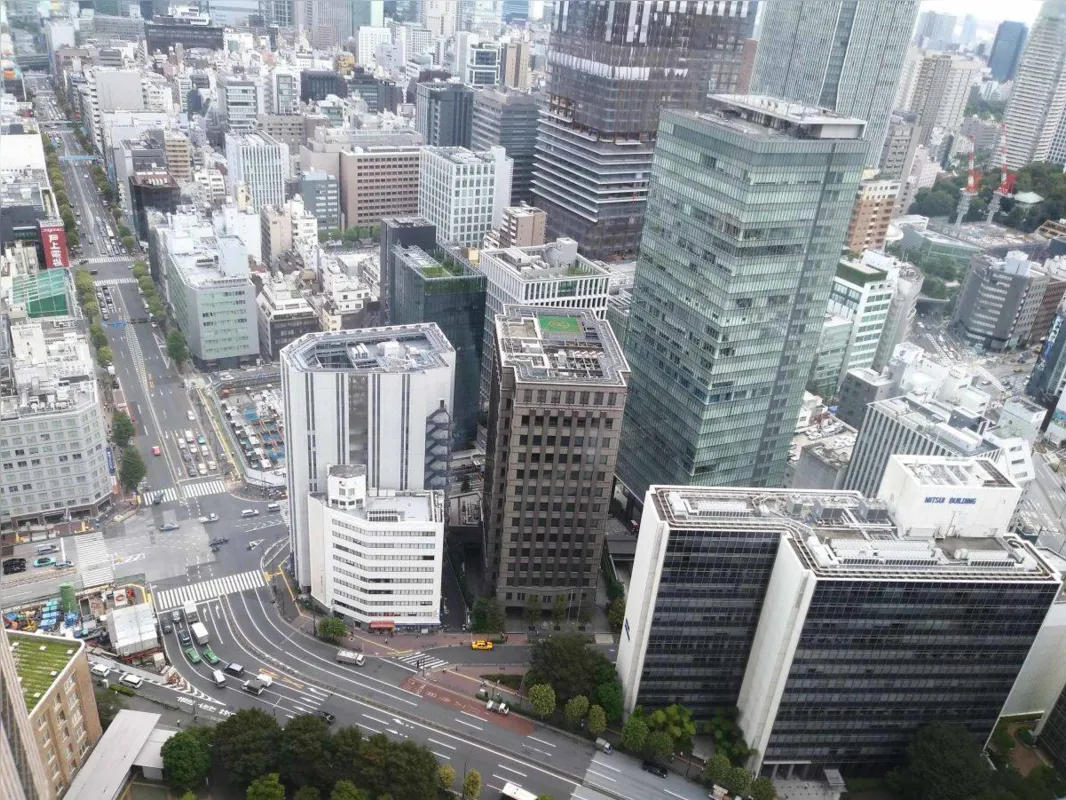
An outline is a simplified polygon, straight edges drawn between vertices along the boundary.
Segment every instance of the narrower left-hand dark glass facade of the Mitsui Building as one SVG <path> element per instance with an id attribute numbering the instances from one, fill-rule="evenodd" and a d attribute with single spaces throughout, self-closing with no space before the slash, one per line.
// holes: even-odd
<path id="1" fill-rule="evenodd" d="M 706 719 L 737 705 L 781 532 L 672 530 L 639 704 Z"/>

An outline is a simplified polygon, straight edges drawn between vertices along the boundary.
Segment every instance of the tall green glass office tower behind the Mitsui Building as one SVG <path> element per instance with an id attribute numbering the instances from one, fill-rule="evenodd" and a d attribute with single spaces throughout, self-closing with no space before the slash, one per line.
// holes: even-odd
<path id="1" fill-rule="evenodd" d="M 618 457 L 635 501 L 655 483 L 781 483 L 866 160 L 861 119 L 712 99 L 664 112 L 656 146 Z"/>

